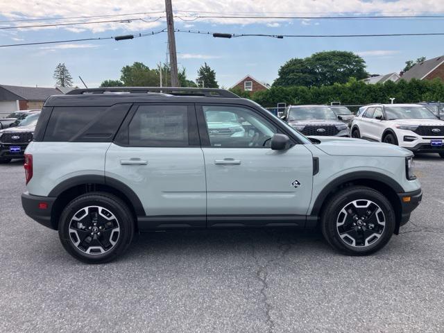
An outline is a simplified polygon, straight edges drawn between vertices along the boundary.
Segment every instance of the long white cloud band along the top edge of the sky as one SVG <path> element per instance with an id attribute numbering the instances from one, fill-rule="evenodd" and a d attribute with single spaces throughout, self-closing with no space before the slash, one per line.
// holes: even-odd
<path id="1" fill-rule="evenodd" d="M 215 9 L 216 8 L 216 9 Z M 211 12 L 230 12 L 233 15 L 273 15 L 277 10 L 286 13 L 284 15 L 294 16 L 296 12 L 304 12 L 310 16 L 338 15 L 339 13 L 360 12 L 362 14 L 378 13 L 382 15 L 393 15 L 393 12 L 429 12 L 433 8 L 434 12 L 444 12 L 443 0 L 300 0 L 297 8 L 294 6 L 294 0 L 175 0 L 173 1 L 173 10 L 181 16 L 191 16 L 200 12 L 202 15 L 212 15 Z M 164 19 L 153 22 L 157 17 L 163 16 L 164 0 L 139 0 L 139 1 L 121 1 L 121 0 L 64 0 L 62 5 L 59 0 L 2 0 L 1 15 L 10 19 L 20 18 L 42 18 L 42 17 L 78 17 L 93 15 L 126 14 L 131 12 L 145 12 L 144 15 L 123 16 L 121 19 L 145 19 L 148 22 L 136 20 L 131 23 L 106 22 L 101 24 L 88 24 L 82 26 L 62 26 L 50 27 L 64 28 L 74 32 L 93 31 L 99 33 L 103 31 L 113 31 L 119 28 L 126 28 L 128 31 L 149 31 L 153 28 L 165 26 Z M 182 12 L 180 12 L 182 10 Z M 194 12 L 184 12 L 194 11 Z M 203 12 L 209 12 L 204 14 Z M 259 14 L 258 14 L 259 13 Z M 262 14 L 260 14 L 262 13 Z M 329 14 L 327 14 L 329 13 Z M 277 14 L 274 14 L 277 15 Z M 282 15 L 282 14 L 280 14 Z M 399 14 L 402 15 L 402 14 Z M 94 18 L 94 21 L 108 21 L 114 17 Z M 115 18 L 119 19 L 119 17 Z M 74 22 L 77 20 L 64 19 L 63 22 Z M 150 22 L 151 21 L 151 22 Z M 197 19 L 197 22 L 207 22 L 210 24 L 284 24 L 291 22 L 290 19 L 222 19 L 207 18 Z M 309 24 L 307 21 L 301 21 L 302 24 Z M 305 22 L 305 23 L 304 23 Z M 25 25 L 29 22 L 17 22 L 17 25 Z M 36 22 L 33 22 L 36 24 Z M 39 22 L 40 23 L 40 22 Z M 48 22 L 41 22 L 42 24 Z M 49 28 L 49 27 L 48 27 Z M 38 28 L 42 29 L 42 28 Z"/>

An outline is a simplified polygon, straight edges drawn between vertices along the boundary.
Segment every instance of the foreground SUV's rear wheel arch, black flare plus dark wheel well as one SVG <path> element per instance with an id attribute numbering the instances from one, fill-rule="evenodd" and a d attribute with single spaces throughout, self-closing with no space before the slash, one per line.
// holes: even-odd
<path id="1" fill-rule="evenodd" d="M 135 192 L 114 178 L 105 176 L 76 176 L 60 182 L 54 187 L 48 196 L 55 197 L 51 210 L 51 225 L 58 229 L 58 220 L 65 206 L 77 196 L 93 191 L 105 191 L 121 198 L 133 212 L 134 218 L 144 216 L 145 210 L 139 197 Z"/>

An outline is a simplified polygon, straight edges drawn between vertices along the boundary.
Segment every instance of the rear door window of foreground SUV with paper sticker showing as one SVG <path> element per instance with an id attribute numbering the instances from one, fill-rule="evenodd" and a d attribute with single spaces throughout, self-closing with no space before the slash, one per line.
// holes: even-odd
<path id="1" fill-rule="evenodd" d="M 128 126 L 130 146 L 189 146 L 187 105 L 141 105 Z"/>

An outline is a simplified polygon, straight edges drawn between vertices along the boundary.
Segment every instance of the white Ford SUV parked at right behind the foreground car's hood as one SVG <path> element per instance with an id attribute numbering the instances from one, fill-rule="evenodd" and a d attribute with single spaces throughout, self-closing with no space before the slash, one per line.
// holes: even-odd
<path id="1" fill-rule="evenodd" d="M 352 123 L 352 137 L 444 157 L 444 121 L 423 105 L 366 105 Z"/>

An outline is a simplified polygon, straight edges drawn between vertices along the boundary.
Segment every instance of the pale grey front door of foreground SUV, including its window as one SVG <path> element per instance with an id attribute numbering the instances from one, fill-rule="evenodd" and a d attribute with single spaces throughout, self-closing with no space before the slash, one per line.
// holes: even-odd
<path id="1" fill-rule="evenodd" d="M 257 110 L 233 105 L 197 109 L 205 119 L 199 123 L 200 137 L 209 139 L 202 148 L 208 225 L 303 223 L 313 177 L 309 150 L 303 144 L 271 150 L 271 137 L 279 130 Z"/>

